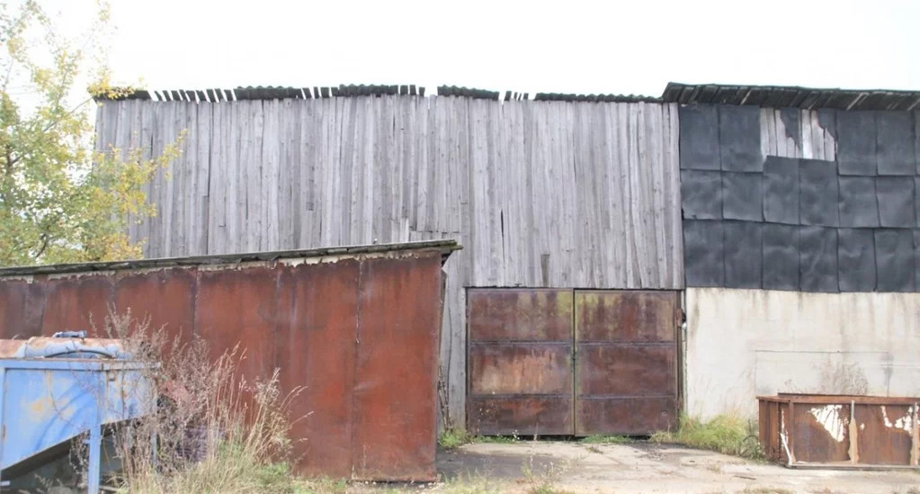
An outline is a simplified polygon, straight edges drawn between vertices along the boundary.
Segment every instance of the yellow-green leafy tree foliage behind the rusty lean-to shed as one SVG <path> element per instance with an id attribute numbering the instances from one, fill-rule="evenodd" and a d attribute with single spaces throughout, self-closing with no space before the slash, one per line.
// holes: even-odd
<path id="1" fill-rule="evenodd" d="M 74 39 L 34 0 L 0 1 L 0 266 L 140 257 L 127 226 L 155 215 L 143 187 L 178 143 L 153 158 L 94 151 L 92 97 L 132 91 L 110 86 L 98 63 L 107 7 Z M 88 94 L 76 88 L 88 80 Z"/>

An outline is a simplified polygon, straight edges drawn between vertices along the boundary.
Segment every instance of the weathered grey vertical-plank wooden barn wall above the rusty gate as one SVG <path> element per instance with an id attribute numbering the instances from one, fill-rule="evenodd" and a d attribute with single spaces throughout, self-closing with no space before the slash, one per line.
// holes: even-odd
<path id="1" fill-rule="evenodd" d="M 107 101 L 98 149 L 183 153 L 147 258 L 456 238 L 441 362 L 464 424 L 465 287 L 679 289 L 675 104 L 408 96 Z"/>

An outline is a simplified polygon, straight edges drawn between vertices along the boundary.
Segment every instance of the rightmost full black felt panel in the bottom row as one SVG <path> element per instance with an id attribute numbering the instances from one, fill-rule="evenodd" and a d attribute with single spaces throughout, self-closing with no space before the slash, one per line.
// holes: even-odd
<path id="1" fill-rule="evenodd" d="M 914 231 L 875 230 L 879 292 L 914 292 Z"/>

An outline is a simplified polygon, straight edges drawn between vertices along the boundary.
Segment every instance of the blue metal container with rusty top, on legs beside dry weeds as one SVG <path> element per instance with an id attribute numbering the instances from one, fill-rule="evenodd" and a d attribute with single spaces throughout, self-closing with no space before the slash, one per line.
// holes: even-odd
<path id="1" fill-rule="evenodd" d="M 0 343 L 0 468 L 40 464 L 88 432 L 86 487 L 98 492 L 103 427 L 155 407 L 151 364 L 128 357 L 110 339 Z"/>

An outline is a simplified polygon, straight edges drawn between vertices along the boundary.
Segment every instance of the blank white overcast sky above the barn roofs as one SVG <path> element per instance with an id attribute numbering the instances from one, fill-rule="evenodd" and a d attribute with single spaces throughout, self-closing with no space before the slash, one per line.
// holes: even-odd
<path id="1" fill-rule="evenodd" d="M 89 0 L 62 3 L 68 22 Z M 56 5 L 56 3 L 55 3 Z M 111 0 L 150 88 L 416 84 L 659 96 L 668 81 L 920 89 L 920 1 Z"/>

